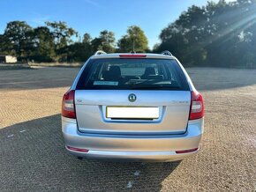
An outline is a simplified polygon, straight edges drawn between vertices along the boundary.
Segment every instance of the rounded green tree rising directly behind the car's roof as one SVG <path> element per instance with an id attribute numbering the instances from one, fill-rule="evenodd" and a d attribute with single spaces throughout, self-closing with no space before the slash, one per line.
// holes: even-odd
<path id="1" fill-rule="evenodd" d="M 118 51 L 120 52 L 145 52 L 148 49 L 147 37 L 139 26 L 129 26 L 125 34 L 118 42 Z"/>

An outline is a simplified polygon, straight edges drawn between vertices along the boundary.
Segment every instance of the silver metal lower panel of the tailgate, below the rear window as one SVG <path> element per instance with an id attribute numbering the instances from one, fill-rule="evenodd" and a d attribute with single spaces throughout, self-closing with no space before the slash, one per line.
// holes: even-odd
<path id="1" fill-rule="evenodd" d="M 137 97 L 134 102 L 128 100 L 131 93 Z M 155 135 L 184 133 L 191 94 L 176 91 L 93 90 L 76 91 L 75 98 L 78 126 L 82 132 Z M 118 108 L 119 114 L 115 113 Z M 141 115 L 136 114 L 137 111 Z M 143 115 L 147 111 L 149 113 Z"/>

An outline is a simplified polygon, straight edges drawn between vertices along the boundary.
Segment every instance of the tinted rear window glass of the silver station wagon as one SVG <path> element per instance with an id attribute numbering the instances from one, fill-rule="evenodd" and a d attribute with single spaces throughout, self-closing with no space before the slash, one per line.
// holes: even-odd
<path id="1" fill-rule="evenodd" d="M 173 59 L 91 59 L 77 90 L 180 90 L 189 87 Z"/>

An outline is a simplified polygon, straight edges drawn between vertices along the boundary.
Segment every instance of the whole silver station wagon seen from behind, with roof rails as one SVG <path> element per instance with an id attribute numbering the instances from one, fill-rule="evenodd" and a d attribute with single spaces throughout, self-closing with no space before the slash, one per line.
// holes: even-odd
<path id="1" fill-rule="evenodd" d="M 181 160 L 203 128 L 202 96 L 169 51 L 97 51 L 63 97 L 65 148 L 79 159 Z"/>

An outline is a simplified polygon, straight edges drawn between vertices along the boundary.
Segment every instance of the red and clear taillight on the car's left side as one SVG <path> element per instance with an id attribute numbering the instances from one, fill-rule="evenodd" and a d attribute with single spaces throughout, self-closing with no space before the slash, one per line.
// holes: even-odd
<path id="1" fill-rule="evenodd" d="M 64 93 L 63 100 L 62 100 L 62 112 L 61 112 L 61 114 L 64 117 L 76 119 L 74 99 L 75 99 L 74 90 Z"/>

